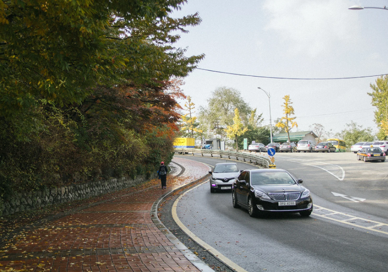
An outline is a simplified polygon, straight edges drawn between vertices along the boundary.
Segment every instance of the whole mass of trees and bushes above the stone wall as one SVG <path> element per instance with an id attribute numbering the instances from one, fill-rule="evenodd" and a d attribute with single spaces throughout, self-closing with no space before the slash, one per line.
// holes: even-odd
<path id="1" fill-rule="evenodd" d="M 4 188 L 147 175 L 172 156 L 173 79 L 203 55 L 175 47 L 186 0 L 0 0 Z M 151 150 L 151 151 L 150 151 Z"/>

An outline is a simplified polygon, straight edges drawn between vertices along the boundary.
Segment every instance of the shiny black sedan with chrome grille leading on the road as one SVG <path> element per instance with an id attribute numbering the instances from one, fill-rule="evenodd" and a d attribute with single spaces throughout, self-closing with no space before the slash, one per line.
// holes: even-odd
<path id="1" fill-rule="evenodd" d="M 232 186 L 234 208 L 248 209 L 250 216 L 264 212 L 312 212 L 310 191 L 290 173 L 280 169 L 244 170 Z"/>

